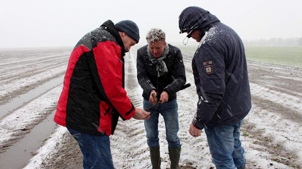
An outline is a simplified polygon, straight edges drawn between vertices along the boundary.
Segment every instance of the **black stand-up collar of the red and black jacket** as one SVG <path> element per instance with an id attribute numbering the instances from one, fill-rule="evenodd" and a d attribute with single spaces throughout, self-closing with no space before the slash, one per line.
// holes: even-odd
<path id="1" fill-rule="evenodd" d="M 121 47 L 121 52 L 122 52 L 121 57 L 124 57 L 125 52 L 127 52 L 127 51 L 125 50 L 122 38 L 120 37 L 120 34 L 119 34 L 118 30 L 115 28 L 114 23 L 111 20 L 107 20 L 106 22 L 104 22 L 101 25 L 101 27 L 103 29 L 105 29 L 106 31 L 108 31 L 115 38 L 115 40 L 117 41 L 117 43 Z"/>

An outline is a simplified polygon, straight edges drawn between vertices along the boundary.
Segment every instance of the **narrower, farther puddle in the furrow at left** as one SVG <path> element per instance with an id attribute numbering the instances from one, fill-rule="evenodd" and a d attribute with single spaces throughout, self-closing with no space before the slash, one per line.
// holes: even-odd
<path id="1" fill-rule="evenodd" d="M 10 114 L 11 112 L 13 112 L 16 108 L 19 108 L 20 106 L 22 106 L 23 104 L 35 99 L 36 97 L 48 92 L 49 90 L 51 90 L 52 88 L 57 87 L 58 85 L 61 85 L 63 83 L 64 80 L 64 75 L 54 78 L 51 81 L 48 81 L 40 86 L 38 86 L 37 88 L 24 93 L 22 95 L 19 95 L 18 97 L 14 98 L 13 100 L 11 100 L 10 102 L 3 104 L 0 106 L 0 119 L 3 116 L 6 116 L 7 114 Z"/>

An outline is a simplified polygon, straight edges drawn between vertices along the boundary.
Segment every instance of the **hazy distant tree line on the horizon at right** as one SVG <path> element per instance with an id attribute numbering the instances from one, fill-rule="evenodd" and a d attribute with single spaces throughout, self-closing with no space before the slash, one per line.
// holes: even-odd
<path id="1" fill-rule="evenodd" d="M 243 40 L 245 45 L 302 45 L 302 37 Z"/>

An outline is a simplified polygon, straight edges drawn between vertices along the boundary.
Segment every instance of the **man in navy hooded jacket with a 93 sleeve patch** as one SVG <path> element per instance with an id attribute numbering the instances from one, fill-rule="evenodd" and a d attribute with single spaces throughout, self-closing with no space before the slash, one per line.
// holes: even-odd
<path id="1" fill-rule="evenodd" d="M 233 29 L 196 6 L 182 11 L 179 29 L 200 42 L 192 60 L 199 102 L 189 132 L 198 137 L 204 128 L 217 169 L 245 168 L 239 136 L 251 95 L 243 43 Z"/>

